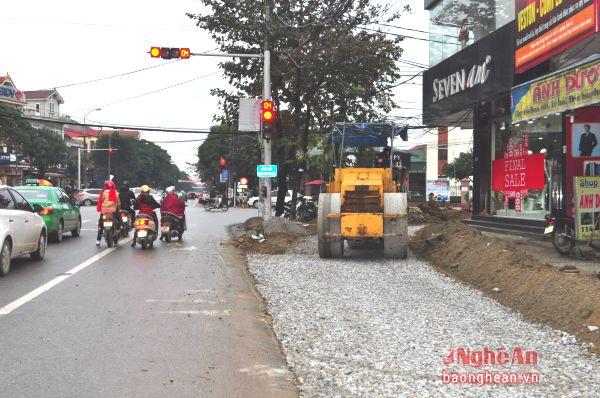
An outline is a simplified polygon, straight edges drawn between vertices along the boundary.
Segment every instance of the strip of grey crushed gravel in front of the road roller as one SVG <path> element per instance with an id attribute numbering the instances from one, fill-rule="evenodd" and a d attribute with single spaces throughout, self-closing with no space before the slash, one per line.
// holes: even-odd
<path id="1" fill-rule="evenodd" d="M 592 397 L 600 360 L 560 331 L 455 282 L 429 264 L 369 253 L 321 260 L 316 239 L 249 269 L 303 397 Z M 537 365 L 445 365 L 451 348 L 538 353 Z M 537 385 L 442 383 L 442 371 L 537 372 Z"/>

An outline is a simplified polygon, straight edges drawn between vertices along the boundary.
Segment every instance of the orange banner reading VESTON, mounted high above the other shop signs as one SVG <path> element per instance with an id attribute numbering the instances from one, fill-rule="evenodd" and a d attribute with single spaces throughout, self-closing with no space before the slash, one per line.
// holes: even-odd
<path id="1" fill-rule="evenodd" d="M 597 2 L 516 0 L 516 73 L 539 64 L 597 32 Z"/>

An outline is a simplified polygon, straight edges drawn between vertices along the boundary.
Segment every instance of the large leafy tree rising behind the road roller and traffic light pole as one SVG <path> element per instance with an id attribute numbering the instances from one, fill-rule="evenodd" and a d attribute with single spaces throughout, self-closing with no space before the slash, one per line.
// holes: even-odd
<path id="1" fill-rule="evenodd" d="M 321 138 L 334 121 L 381 120 L 381 110 L 395 105 L 389 88 L 400 77 L 399 39 L 363 27 L 398 15 L 369 0 L 267 0 L 271 18 L 265 23 L 262 2 L 201 3 L 206 12 L 188 15 L 212 34 L 221 51 L 260 53 L 264 35 L 269 37 L 272 97 L 279 109 L 288 109 L 275 123 L 273 140 L 273 159 L 280 165 L 280 214 L 288 174 L 306 168 L 313 135 Z M 239 97 L 261 95 L 262 60 L 234 60 L 221 67 L 237 91 L 213 94 L 221 98 L 222 120 L 231 122 Z"/>

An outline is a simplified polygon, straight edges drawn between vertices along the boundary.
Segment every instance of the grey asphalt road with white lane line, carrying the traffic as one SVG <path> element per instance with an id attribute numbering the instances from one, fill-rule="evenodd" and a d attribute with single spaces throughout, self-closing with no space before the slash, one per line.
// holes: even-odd
<path id="1" fill-rule="evenodd" d="M 82 208 L 81 237 L 0 279 L 0 396 L 296 396 L 245 265 L 222 244 L 254 215 L 188 207 L 181 243 L 113 250 L 95 246 L 97 213 Z"/>

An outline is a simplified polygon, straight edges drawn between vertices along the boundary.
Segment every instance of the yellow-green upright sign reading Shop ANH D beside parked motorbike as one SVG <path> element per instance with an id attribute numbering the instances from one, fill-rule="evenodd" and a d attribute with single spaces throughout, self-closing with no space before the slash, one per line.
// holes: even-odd
<path id="1" fill-rule="evenodd" d="M 575 184 L 575 229 L 579 240 L 600 239 L 600 177 L 573 177 Z M 594 228 L 595 227 L 595 228 Z"/>

